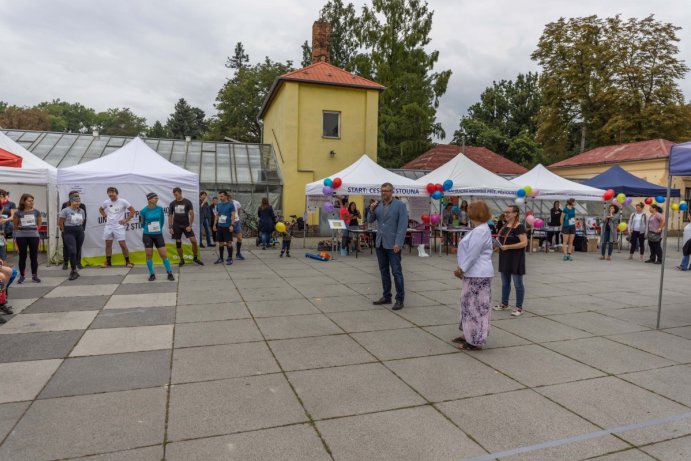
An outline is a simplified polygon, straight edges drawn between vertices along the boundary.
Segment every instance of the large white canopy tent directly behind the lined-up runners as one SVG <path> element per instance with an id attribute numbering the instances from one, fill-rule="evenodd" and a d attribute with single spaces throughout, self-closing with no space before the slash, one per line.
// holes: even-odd
<path id="1" fill-rule="evenodd" d="M 173 188 L 179 187 L 183 197 L 189 199 L 194 206 L 195 221 L 199 216 L 199 176 L 165 160 L 140 138 L 134 138 L 104 157 L 60 169 L 60 198 L 66 200 L 69 191 L 77 190 L 82 203 L 87 207 L 86 236 L 82 247 L 82 257 L 86 264 L 101 264 L 105 256 L 104 220 L 98 209 L 108 198 L 106 189 L 109 186 L 116 187 L 119 197 L 129 201 L 137 213 L 147 205 L 146 194 L 154 192 L 158 194 L 159 205 L 165 209 L 166 214 L 168 204 L 173 200 Z M 198 228 L 198 224 L 193 224 L 193 229 Z M 164 231 L 163 235 L 166 243 L 172 242 L 170 233 Z M 130 221 L 126 236 L 130 258 L 135 263 L 143 263 L 144 246 L 138 219 Z M 168 256 L 171 260 L 176 260 L 177 255 L 171 249 L 174 250 L 174 246 L 169 246 Z M 114 244 L 114 256 L 119 253 L 117 244 Z M 185 253 L 191 255 L 189 248 L 186 248 Z M 186 254 L 185 258 L 187 257 Z M 119 259 L 114 257 L 113 261 L 115 264 Z"/>

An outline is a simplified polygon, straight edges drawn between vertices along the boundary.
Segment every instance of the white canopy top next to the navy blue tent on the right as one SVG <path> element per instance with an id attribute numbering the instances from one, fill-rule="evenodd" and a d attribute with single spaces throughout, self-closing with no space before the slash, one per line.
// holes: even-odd
<path id="1" fill-rule="evenodd" d="M 558 200 L 575 198 L 576 200 L 597 202 L 602 201 L 602 189 L 586 186 L 569 181 L 558 174 L 552 173 L 543 165 L 537 165 L 527 173 L 511 180 L 514 190 L 530 186 L 540 191 L 538 200 Z"/>

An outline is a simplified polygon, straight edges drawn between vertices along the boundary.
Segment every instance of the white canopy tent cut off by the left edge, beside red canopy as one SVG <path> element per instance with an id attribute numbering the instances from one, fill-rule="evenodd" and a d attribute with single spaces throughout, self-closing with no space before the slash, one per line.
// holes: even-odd
<path id="1" fill-rule="evenodd" d="M 23 193 L 34 196 L 34 206 L 44 213 L 48 223 L 48 255 L 53 259 L 57 250 L 57 168 L 44 162 L 21 145 L 0 132 L 0 147 L 22 157 L 22 167 L 0 167 L 0 187 L 10 192 L 10 199 L 19 203 Z"/>

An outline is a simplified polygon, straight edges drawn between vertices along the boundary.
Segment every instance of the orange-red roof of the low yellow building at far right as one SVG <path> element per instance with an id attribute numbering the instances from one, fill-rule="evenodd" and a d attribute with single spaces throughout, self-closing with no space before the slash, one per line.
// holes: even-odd
<path id="1" fill-rule="evenodd" d="M 553 163 L 548 168 L 666 158 L 669 156 L 672 144 L 674 143 L 666 139 L 651 139 L 629 144 L 596 147 L 561 162 Z"/>

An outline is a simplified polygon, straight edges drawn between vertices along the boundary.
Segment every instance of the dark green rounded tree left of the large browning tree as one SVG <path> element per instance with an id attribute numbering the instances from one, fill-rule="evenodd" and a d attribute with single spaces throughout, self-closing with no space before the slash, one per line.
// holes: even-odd
<path id="1" fill-rule="evenodd" d="M 518 74 L 515 80 L 492 82 L 492 86 L 480 95 L 480 101 L 461 117 L 452 142 L 465 141 L 469 145 L 487 147 L 531 167 L 534 160 L 542 156 L 534 140 L 541 103 L 537 73 Z M 526 142 L 529 139 L 532 142 Z"/>

